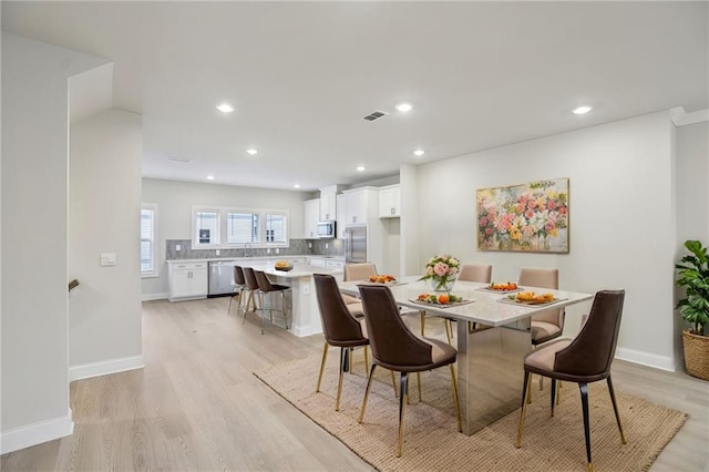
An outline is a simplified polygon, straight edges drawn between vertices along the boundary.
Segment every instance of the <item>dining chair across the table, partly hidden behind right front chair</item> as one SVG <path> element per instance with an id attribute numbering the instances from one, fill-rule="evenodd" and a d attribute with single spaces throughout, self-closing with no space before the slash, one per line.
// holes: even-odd
<path id="1" fill-rule="evenodd" d="M 557 290 L 558 269 L 522 267 L 520 269 L 517 284 L 521 287 L 531 286 Z M 532 347 L 536 348 L 546 341 L 551 341 L 552 339 L 556 339 L 562 336 L 562 332 L 564 331 L 564 308 L 532 315 Z M 542 390 L 543 387 L 544 380 L 540 377 L 540 390 Z"/>

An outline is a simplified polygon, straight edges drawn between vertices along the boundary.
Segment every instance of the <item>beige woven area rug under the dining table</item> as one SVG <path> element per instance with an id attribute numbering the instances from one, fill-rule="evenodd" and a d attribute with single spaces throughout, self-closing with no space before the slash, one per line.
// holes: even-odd
<path id="1" fill-rule="evenodd" d="M 357 418 L 366 387 L 361 353 L 353 373 L 345 374 L 340 411 L 335 411 L 339 349 L 330 349 L 322 387 L 316 393 L 320 357 L 274 366 L 255 372 L 274 391 L 338 438 L 364 461 L 382 471 L 585 471 L 583 417 L 578 388 L 565 383 L 561 404 L 549 417 L 548 379 L 544 390 L 533 382 L 521 449 L 514 447 L 520 410 L 466 437 L 456 431 L 450 370 L 421 374 L 423 400 L 418 401 L 415 374 L 409 378 L 403 455 L 395 456 L 398 399 L 389 371 L 378 368 L 364 421 Z M 398 377 L 397 377 L 398 382 Z M 522 383 L 522 379 L 520 379 Z M 596 471 L 645 471 L 685 423 L 687 415 L 631 394 L 616 391 L 627 444 L 620 437 L 605 382 L 589 386 L 590 435 Z"/>

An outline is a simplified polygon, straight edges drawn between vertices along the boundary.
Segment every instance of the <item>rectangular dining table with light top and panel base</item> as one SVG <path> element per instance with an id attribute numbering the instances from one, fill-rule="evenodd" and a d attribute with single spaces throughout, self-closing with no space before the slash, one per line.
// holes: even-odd
<path id="1" fill-rule="evenodd" d="M 588 302 L 592 294 L 518 287 L 514 293 L 493 290 L 490 284 L 458 280 L 451 291 L 460 301 L 441 305 L 420 301 L 438 294 L 420 276 L 384 284 L 400 307 L 456 321 L 458 386 L 463 433 L 470 435 L 520 408 L 524 382 L 524 357 L 533 349 L 531 318 L 546 310 Z M 339 283 L 343 294 L 359 296 L 359 285 Z M 515 300 L 517 291 L 552 294 L 553 301 L 532 305 Z"/>

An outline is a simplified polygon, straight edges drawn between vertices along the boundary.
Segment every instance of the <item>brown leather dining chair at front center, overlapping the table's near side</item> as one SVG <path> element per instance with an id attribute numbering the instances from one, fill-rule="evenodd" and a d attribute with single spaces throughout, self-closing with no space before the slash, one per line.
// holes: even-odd
<path id="1" fill-rule="evenodd" d="M 367 390 L 364 391 L 358 421 L 361 423 L 364 418 L 367 399 L 377 366 L 400 372 L 399 438 L 397 442 L 397 456 L 400 458 L 403 445 L 404 413 L 409 398 L 409 373 L 449 366 L 451 369 L 458 430 L 462 431 L 458 384 L 455 382 L 455 369 L 453 368 L 458 353 L 455 348 L 438 339 L 423 338 L 411 332 L 401 319 L 399 307 L 389 287 L 362 285 L 359 287 L 359 291 L 364 308 L 364 321 L 367 324 L 369 345 L 372 348 L 373 362 L 369 371 L 369 380 L 367 381 Z"/>

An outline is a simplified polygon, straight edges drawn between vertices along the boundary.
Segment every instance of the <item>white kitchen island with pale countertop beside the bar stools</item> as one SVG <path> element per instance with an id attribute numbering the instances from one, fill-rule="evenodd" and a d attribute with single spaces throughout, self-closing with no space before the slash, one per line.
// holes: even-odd
<path id="1" fill-rule="evenodd" d="M 315 289 L 312 274 L 329 274 L 338 280 L 342 279 L 342 269 L 337 267 L 314 267 L 305 264 L 297 264 L 292 270 L 276 270 L 273 264 L 247 265 L 254 270 L 261 270 L 268 275 L 271 281 L 290 286 L 291 296 L 288 312 L 288 328 L 298 336 L 310 336 L 322 332 L 320 321 L 320 310 Z"/>

